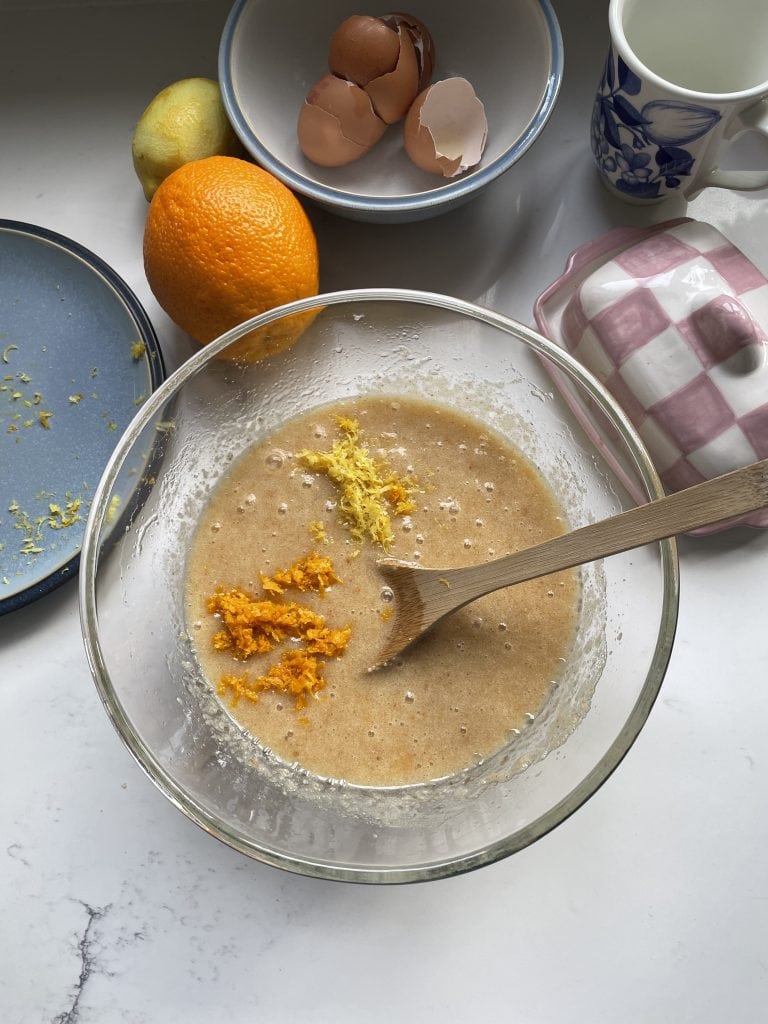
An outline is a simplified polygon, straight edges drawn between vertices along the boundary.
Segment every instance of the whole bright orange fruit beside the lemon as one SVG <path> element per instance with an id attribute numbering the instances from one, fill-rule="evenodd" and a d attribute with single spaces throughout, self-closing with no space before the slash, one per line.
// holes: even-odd
<path id="1" fill-rule="evenodd" d="M 206 344 L 256 313 L 316 295 L 317 243 L 301 204 L 273 175 L 236 157 L 208 157 L 179 167 L 155 193 L 144 269 L 171 319 Z M 226 354 L 256 360 L 278 352 L 315 315 L 252 331 Z"/>

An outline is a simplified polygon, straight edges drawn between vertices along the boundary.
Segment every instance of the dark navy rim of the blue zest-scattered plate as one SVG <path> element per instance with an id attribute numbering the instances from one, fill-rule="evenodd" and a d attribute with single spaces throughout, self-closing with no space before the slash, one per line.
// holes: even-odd
<path id="1" fill-rule="evenodd" d="M 50 230 L 47 227 L 41 227 L 37 224 L 30 224 L 18 220 L 0 218 L 0 237 L 2 237 L 5 232 L 26 236 L 60 249 L 65 254 L 72 256 L 74 259 L 84 264 L 88 269 L 92 270 L 94 275 L 100 280 L 105 288 L 115 294 L 118 301 L 125 306 L 129 316 L 135 325 L 136 340 L 143 341 L 144 343 L 142 360 L 145 362 L 148 373 L 150 391 L 155 391 L 166 378 L 163 352 L 160 348 L 155 329 L 143 306 L 117 271 L 114 270 L 109 263 L 105 263 L 104 260 L 102 260 L 99 256 L 96 256 L 95 253 L 91 252 L 91 250 L 87 249 L 79 242 L 75 242 L 73 239 L 59 234 L 58 232 Z M 0 325 L 0 327 L 2 325 Z M 116 443 L 118 437 L 119 435 L 115 437 Z M 100 477 L 102 469 L 103 466 L 99 467 L 98 472 L 94 474 L 97 478 Z M 95 486 L 97 479 L 93 482 Z M 123 515 L 120 516 L 121 520 L 122 518 Z M 17 608 L 31 604 L 33 601 L 38 600 L 38 598 L 49 594 L 51 591 L 60 587 L 69 580 L 74 579 L 77 575 L 79 566 L 80 546 L 78 546 L 77 550 L 71 557 L 69 557 L 60 565 L 56 566 L 47 575 L 36 580 L 34 583 L 24 586 L 22 589 L 9 594 L 7 597 L 0 596 L 0 615 L 15 611 Z"/>

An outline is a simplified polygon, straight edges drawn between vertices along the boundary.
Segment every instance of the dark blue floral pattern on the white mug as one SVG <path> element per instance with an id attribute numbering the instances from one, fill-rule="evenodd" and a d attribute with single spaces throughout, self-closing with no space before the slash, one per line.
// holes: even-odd
<path id="1" fill-rule="evenodd" d="M 686 146 L 720 121 L 719 111 L 677 99 L 639 106 L 642 82 L 608 49 L 592 110 L 592 153 L 598 169 L 618 191 L 634 199 L 660 199 L 689 177 L 694 155 Z"/>

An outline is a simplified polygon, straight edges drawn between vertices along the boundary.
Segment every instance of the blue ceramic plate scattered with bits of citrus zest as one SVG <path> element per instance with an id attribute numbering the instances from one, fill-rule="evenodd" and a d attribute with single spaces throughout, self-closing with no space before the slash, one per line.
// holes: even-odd
<path id="1" fill-rule="evenodd" d="M 165 377 L 139 302 L 93 253 L 0 220 L 0 614 L 75 575 L 115 444 Z"/>

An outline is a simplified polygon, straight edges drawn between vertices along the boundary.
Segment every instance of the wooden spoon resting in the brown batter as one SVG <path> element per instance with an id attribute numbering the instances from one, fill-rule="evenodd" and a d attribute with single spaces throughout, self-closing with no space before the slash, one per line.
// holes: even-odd
<path id="1" fill-rule="evenodd" d="M 386 665 L 439 618 L 483 594 L 765 506 L 768 459 L 480 565 L 430 569 L 380 558 L 377 564 L 394 593 L 394 622 L 372 669 Z"/>

